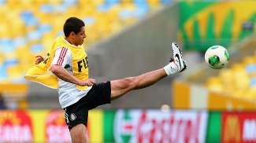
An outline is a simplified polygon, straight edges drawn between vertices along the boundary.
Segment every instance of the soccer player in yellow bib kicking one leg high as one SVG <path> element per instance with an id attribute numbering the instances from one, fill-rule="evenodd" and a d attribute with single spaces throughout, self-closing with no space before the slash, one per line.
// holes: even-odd
<path id="1" fill-rule="evenodd" d="M 88 110 L 109 104 L 131 90 L 157 83 L 160 79 L 183 72 L 187 65 L 179 46 L 173 42 L 173 57 L 164 68 L 143 75 L 96 83 L 89 79 L 87 53 L 83 49 L 83 20 L 70 17 L 65 21 L 65 35 L 58 36 L 46 57 L 38 56 L 25 79 L 58 90 L 61 108 L 73 143 L 86 142 Z"/>

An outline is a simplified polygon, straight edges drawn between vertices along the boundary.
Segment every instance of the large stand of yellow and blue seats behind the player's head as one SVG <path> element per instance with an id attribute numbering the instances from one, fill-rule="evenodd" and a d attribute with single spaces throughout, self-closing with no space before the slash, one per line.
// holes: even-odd
<path id="1" fill-rule="evenodd" d="M 171 0 L 1 0 L 0 85 L 3 93 L 28 94 L 23 76 L 36 55 L 46 55 L 51 43 L 63 35 L 69 16 L 84 20 L 85 49 L 154 13 Z M 16 97 L 16 96 L 14 96 Z M 17 101 L 20 99 L 16 98 Z M 24 99 L 24 98 L 23 98 Z M 7 100 L 8 101 L 8 100 Z M 26 107 L 25 100 L 21 100 Z"/>

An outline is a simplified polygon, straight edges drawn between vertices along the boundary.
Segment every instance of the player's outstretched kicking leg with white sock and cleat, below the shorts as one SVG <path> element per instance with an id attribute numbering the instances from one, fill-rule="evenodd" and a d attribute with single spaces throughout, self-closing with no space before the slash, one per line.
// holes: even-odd
<path id="1" fill-rule="evenodd" d="M 173 57 L 169 64 L 164 68 L 144 73 L 143 75 L 129 77 L 125 79 L 113 80 L 111 84 L 111 100 L 115 100 L 118 97 L 128 93 L 131 90 L 139 90 L 157 83 L 159 80 L 165 78 L 168 75 L 173 75 L 177 72 L 183 72 L 187 65 L 182 57 L 182 52 L 179 46 L 173 42 Z"/>

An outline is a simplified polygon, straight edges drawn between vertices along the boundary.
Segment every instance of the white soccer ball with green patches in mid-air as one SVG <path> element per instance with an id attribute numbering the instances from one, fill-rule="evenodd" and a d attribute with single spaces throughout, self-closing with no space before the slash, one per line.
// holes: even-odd
<path id="1" fill-rule="evenodd" d="M 206 64 L 213 69 L 221 69 L 228 64 L 228 50 L 223 46 L 211 46 L 205 53 Z"/>

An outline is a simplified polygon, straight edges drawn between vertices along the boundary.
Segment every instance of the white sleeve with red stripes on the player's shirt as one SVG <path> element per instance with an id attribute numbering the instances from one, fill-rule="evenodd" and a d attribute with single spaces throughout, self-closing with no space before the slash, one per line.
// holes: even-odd
<path id="1" fill-rule="evenodd" d="M 66 64 L 71 64 L 70 59 L 72 59 L 71 51 L 68 48 L 61 47 L 56 49 L 54 60 L 51 64 L 57 64 L 65 67 Z"/>

